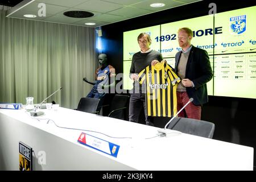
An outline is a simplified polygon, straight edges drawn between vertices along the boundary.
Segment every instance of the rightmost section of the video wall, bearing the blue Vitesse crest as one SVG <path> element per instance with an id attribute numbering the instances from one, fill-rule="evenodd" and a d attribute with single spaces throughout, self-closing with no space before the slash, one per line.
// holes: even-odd
<path id="1" fill-rule="evenodd" d="M 256 98 L 256 6 L 216 14 L 214 96 Z"/>

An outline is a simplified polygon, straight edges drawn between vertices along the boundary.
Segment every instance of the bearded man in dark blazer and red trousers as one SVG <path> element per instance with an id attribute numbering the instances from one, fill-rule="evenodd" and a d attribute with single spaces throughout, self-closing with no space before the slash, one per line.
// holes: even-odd
<path id="1" fill-rule="evenodd" d="M 201 106 L 208 102 L 207 82 L 212 79 L 213 72 L 207 51 L 192 46 L 192 37 L 193 32 L 189 28 L 179 29 L 181 51 L 175 56 L 175 71 L 182 81 L 177 86 L 177 110 L 193 98 L 193 102 L 178 116 L 201 119 Z"/>

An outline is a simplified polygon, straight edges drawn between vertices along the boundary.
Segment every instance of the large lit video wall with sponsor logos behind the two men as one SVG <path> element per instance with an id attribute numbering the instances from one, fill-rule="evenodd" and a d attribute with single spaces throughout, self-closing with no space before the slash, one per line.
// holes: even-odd
<path id="1" fill-rule="evenodd" d="M 189 27 L 193 31 L 193 46 L 209 54 L 214 77 L 207 83 L 208 94 L 256 98 L 255 18 L 253 6 L 123 32 L 123 89 L 133 87 L 129 72 L 133 54 L 140 51 L 137 37 L 141 32 L 151 35 L 151 48 L 161 52 L 168 64 L 175 67 L 175 55 L 181 49 L 177 30 Z"/>

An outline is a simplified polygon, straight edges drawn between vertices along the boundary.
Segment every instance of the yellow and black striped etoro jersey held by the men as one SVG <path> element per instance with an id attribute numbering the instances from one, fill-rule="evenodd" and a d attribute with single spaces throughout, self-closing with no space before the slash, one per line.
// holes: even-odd
<path id="1" fill-rule="evenodd" d="M 138 81 L 146 88 L 148 116 L 173 117 L 177 113 L 176 88 L 181 78 L 170 65 L 164 61 L 149 65 L 139 73 Z"/>

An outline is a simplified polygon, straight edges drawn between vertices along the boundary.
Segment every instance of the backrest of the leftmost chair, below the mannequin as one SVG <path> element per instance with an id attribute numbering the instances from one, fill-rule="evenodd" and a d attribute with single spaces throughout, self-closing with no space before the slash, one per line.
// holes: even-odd
<path id="1" fill-rule="evenodd" d="M 79 105 L 77 106 L 77 110 L 96 114 L 99 102 L 100 98 L 82 97 L 79 101 Z"/>

